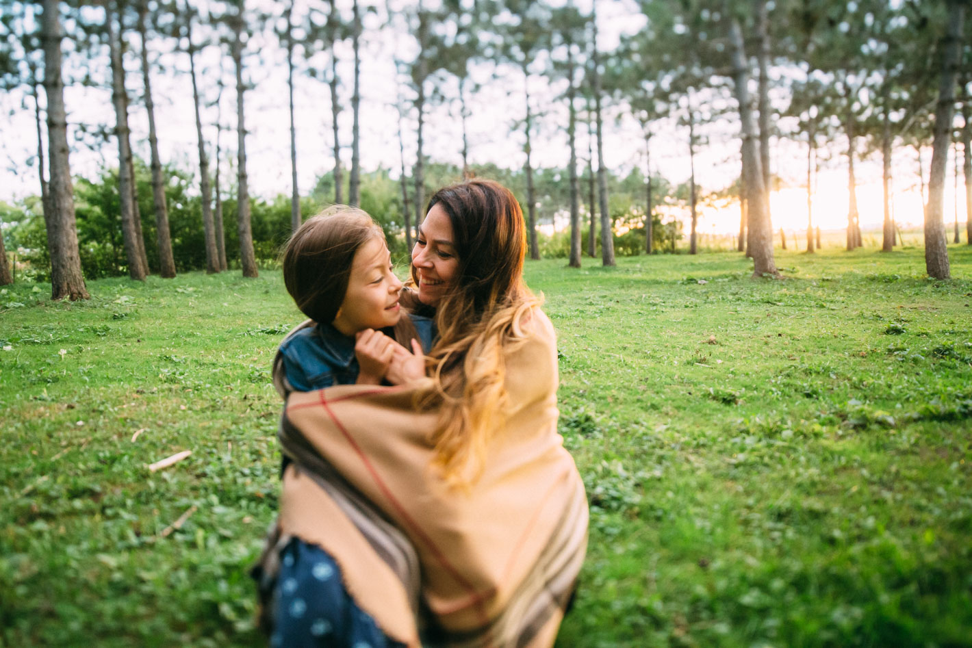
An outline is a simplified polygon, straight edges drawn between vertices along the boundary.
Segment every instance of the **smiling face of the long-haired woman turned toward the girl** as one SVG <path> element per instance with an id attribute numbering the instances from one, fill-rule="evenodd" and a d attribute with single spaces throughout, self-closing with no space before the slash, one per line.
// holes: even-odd
<path id="1" fill-rule="evenodd" d="M 412 265 L 419 282 L 419 301 L 437 306 L 459 267 L 452 223 L 439 203 L 429 210 L 419 226 L 419 237 L 412 249 Z"/>

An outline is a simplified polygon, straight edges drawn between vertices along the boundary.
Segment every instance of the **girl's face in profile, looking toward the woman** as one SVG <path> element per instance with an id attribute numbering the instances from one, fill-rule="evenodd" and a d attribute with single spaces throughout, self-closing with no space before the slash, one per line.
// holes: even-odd
<path id="1" fill-rule="evenodd" d="M 399 323 L 401 282 L 392 272 L 385 242 L 375 237 L 355 253 L 348 290 L 334 318 L 334 328 L 354 335 L 365 328 L 384 328 Z"/>

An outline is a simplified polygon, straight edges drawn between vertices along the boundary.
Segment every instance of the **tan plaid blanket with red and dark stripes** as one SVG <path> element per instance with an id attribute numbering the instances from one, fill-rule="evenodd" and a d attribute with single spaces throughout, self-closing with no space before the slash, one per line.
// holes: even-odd
<path id="1" fill-rule="evenodd" d="M 408 645 L 549 646 L 586 549 L 587 502 L 556 431 L 553 326 L 538 309 L 504 362 L 508 407 L 468 489 L 432 467 L 429 381 L 294 392 L 280 426 L 293 462 L 260 561 L 297 536 L 341 566 L 358 605 Z"/>

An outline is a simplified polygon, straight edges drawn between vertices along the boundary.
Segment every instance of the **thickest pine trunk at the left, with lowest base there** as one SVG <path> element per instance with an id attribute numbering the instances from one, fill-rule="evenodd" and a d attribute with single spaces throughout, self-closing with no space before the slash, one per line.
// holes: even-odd
<path id="1" fill-rule="evenodd" d="M 51 298 L 87 299 L 78 252 L 74 187 L 68 163 L 67 115 L 61 79 L 61 29 L 57 0 L 44 0 L 41 42 L 44 45 L 44 90 L 48 96 L 48 146 L 51 161 L 51 210 L 45 212 L 51 256 Z"/>

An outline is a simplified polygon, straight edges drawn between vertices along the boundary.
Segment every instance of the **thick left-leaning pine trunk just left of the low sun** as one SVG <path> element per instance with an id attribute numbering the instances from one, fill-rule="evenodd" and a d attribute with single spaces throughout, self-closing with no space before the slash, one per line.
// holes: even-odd
<path id="1" fill-rule="evenodd" d="M 728 12 L 727 12 L 728 13 Z M 733 83 L 736 99 L 739 102 L 740 120 L 743 123 L 743 173 L 746 184 L 746 204 L 748 205 L 749 252 L 752 254 L 752 276 L 777 276 L 776 260 L 773 256 L 773 232 L 769 214 L 766 212 L 766 194 L 763 188 L 763 172 L 756 149 L 753 132 L 752 109 L 749 107 L 749 73 L 746 68 L 746 49 L 743 42 L 743 28 L 739 18 L 732 17 L 730 23 L 730 43 L 732 48 Z"/>

